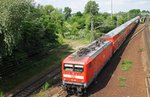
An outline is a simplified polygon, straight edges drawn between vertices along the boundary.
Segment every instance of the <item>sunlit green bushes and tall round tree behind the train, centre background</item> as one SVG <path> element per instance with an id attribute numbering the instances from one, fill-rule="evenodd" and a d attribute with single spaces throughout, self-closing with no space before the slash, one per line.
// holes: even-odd
<path id="1" fill-rule="evenodd" d="M 109 13 L 99 13 L 98 10 L 98 4 L 95 1 L 89 1 L 85 5 L 84 13 L 79 11 L 63 22 L 62 36 L 68 39 L 89 39 L 92 18 L 94 21 L 93 32 L 97 38 L 128 20 L 128 14 L 125 12 L 119 12 L 111 18 Z"/>

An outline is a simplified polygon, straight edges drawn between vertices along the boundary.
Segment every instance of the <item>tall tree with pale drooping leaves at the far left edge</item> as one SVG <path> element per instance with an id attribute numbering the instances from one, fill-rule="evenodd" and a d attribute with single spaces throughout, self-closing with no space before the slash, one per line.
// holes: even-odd
<path id="1" fill-rule="evenodd" d="M 0 1 L 0 53 L 11 55 L 21 40 L 22 22 L 31 6 L 30 0 Z"/>

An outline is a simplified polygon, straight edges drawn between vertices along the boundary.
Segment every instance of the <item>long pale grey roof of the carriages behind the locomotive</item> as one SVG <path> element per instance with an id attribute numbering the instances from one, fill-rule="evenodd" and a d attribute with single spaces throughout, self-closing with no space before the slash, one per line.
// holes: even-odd
<path id="1" fill-rule="evenodd" d="M 123 31 L 126 27 L 128 27 L 131 23 L 135 22 L 138 18 L 139 18 L 139 16 L 129 20 L 128 22 L 122 24 L 121 26 L 119 26 L 119 27 L 115 28 L 114 30 L 105 34 L 104 37 L 114 37 L 115 35 L 120 33 L 120 31 Z"/>

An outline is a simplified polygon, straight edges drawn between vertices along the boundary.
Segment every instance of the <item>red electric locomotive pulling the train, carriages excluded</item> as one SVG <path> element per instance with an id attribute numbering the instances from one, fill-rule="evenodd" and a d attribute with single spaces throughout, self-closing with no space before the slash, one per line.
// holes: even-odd
<path id="1" fill-rule="evenodd" d="M 64 88 L 68 93 L 82 94 L 111 56 L 112 43 L 107 40 L 94 41 L 69 55 L 62 62 Z"/>

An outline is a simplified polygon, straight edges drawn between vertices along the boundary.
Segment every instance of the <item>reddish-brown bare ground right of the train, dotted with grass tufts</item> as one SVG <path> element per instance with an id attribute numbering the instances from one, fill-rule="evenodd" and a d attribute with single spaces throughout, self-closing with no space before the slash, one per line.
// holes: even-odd
<path id="1" fill-rule="evenodd" d="M 94 91 L 89 94 L 90 97 L 146 97 L 145 72 L 141 56 L 143 52 L 140 51 L 144 46 L 143 44 L 142 32 L 129 42 L 123 54 L 118 58 L 118 62 L 112 61 L 108 63 L 109 66 L 99 75 L 98 83 L 89 89 Z M 123 60 L 132 62 L 131 68 L 127 71 L 121 69 Z M 110 65 L 116 66 L 116 68 Z M 109 74 L 108 72 L 111 69 L 115 70 L 111 72 L 112 74 Z M 106 80 L 107 82 L 102 82 L 109 76 L 111 77 Z M 123 80 L 122 82 L 120 81 L 121 79 Z M 122 87 L 120 84 L 124 86 Z"/>

